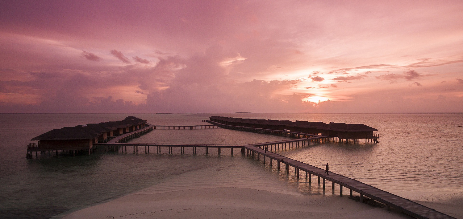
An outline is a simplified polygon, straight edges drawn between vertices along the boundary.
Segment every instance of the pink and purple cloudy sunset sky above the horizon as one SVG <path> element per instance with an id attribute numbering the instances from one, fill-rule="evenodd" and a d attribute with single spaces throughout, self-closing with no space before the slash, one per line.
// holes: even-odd
<path id="1" fill-rule="evenodd" d="M 461 0 L 2 0 L 0 113 L 463 112 Z"/>

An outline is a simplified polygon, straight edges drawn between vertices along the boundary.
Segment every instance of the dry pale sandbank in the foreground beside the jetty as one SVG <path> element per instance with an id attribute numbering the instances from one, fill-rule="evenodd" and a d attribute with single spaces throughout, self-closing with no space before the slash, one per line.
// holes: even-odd
<path id="1" fill-rule="evenodd" d="M 338 195 L 297 195 L 249 188 L 136 193 L 71 213 L 65 219 L 376 218 L 407 216 Z"/>

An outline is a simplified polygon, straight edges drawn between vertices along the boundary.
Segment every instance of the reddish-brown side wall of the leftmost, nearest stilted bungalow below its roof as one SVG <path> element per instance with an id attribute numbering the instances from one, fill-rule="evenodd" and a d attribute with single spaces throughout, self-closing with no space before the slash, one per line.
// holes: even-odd
<path id="1" fill-rule="evenodd" d="M 40 140 L 38 142 L 39 149 L 56 149 L 56 150 L 78 150 L 78 149 L 91 149 L 93 146 L 93 139 L 82 140 Z"/>

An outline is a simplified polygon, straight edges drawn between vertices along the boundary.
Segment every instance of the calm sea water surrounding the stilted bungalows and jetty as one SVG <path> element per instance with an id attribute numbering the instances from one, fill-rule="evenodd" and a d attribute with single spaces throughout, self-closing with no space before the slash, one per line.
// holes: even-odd
<path id="1" fill-rule="evenodd" d="M 97 152 L 26 159 L 30 139 L 53 128 L 138 116 L 156 125 L 201 125 L 209 116 L 363 123 L 380 130 L 380 143 L 326 143 L 279 153 L 324 167 L 416 201 L 463 199 L 462 114 L 0 114 L 0 218 L 50 218 L 148 187 L 274 186 L 322 194 L 293 175 L 279 174 L 235 151 L 192 155 Z M 228 129 L 154 130 L 132 142 L 250 144 L 283 137 Z M 167 149 L 165 150 L 167 152 Z M 211 176 L 211 177 L 204 177 Z M 226 180 L 225 180 L 226 179 Z M 172 183 L 175 182 L 175 183 Z M 439 209 L 437 209 L 439 210 Z"/>

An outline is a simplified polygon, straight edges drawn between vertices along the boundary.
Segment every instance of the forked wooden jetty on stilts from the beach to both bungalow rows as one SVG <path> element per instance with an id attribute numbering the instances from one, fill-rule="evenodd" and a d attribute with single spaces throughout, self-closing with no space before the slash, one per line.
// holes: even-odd
<path id="1" fill-rule="evenodd" d="M 206 121 L 209 122 L 209 121 Z M 231 128 L 235 130 L 242 130 L 242 131 L 251 131 L 257 133 L 265 133 L 265 134 L 277 134 L 283 135 L 287 137 L 293 137 L 296 139 L 290 140 L 281 140 L 281 141 L 273 141 L 273 142 L 265 142 L 265 143 L 258 143 L 258 144 L 250 144 L 244 146 L 236 146 L 236 145 L 182 145 L 182 144 L 131 144 L 131 143 L 119 143 L 118 139 L 113 139 L 112 141 L 106 143 L 108 145 L 113 146 L 124 146 L 125 152 L 127 151 L 126 146 L 133 146 L 133 152 L 138 152 L 138 147 L 144 147 L 145 153 L 150 152 L 150 147 L 156 147 L 156 153 L 161 153 L 162 147 L 167 147 L 169 154 L 173 153 L 174 147 L 180 147 L 180 152 L 182 154 L 185 153 L 185 148 L 192 148 L 193 154 L 196 154 L 196 148 L 202 147 L 205 148 L 206 154 L 208 154 L 209 148 L 218 148 L 218 153 L 220 155 L 222 148 L 230 148 L 231 154 L 233 155 L 234 148 L 241 148 L 244 154 L 251 158 L 257 158 L 257 160 L 263 160 L 263 164 L 266 164 L 266 158 L 269 159 L 268 163 L 270 166 L 273 166 L 276 163 L 276 168 L 280 170 L 282 165 L 285 165 L 285 171 L 289 174 L 290 167 L 294 168 L 294 173 L 296 174 L 297 178 L 300 178 L 300 174 L 302 172 L 305 173 L 305 177 L 308 179 L 309 183 L 312 183 L 313 177 L 318 177 L 318 183 L 323 182 L 322 189 L 326 189 L 326 181 L 330 181 L 332 183 L 332 190 L 334 192 L 335 184 L 339 186 L 339 195 L 343 196 L 343 188 L 349 189 L 349 195 L 352 196 L 353 191 L 360 194 L 360 201 L 363 202 L 364 197 L 369 197 L 372 200 L 378 201 L 383 203 L 386 206 L 387 210 L 390 208 L 396 209 L 402 213 L 410 215 L 414 218 L 418 219 L 454 219 L 447 214 L 438 212 L 432 208 L 425 207 L 424 205 L 418 204 L 414 201 L 410 201 L 398 195 L 391 194 L 387 191 L 382 189 L 375 188 L 370 186 L 366 183 L 359 182 L 355 179 L 342 176 L 340 174 L 336 174 L 333 172 L 329 172 L 330 174 L 325 174 L 325 170 L 315 167 L 310 164 L 306 164 L 300 162 L 298 160 L 294 160 L 280 154 L 275 153 L 277 150 L 283 150 L 288 148 L 296 148 L 302 146 L 309 146 L 311 143 L 323 143 L 326 141 L 333 140 L 336 136 L 321 136 L 321 135 L 307 135 L 301 133 L 291 133 L 286 131 L 277 131 L 271 129 L 263 129 L 263 128 L 249 128 L 249 127 L 237 127 L 237 126 L 230 126 L 225 124 L 220 124 L 218 122 L 210 121 L 212 124 L 217 125 L 218 127 L 223 128 Z M 125 137 L 120 136 L 120 140 L 123 140 Z M 268 150 L 264 150 L 263 148 L 267 147 Z M 123 149 L 123 151 L 124 151 Z M 262 156 L 262 158 L 261 158 Z M 312 176 L 314 175 L 314 176 Z M 303 177 L 303 176 L 302 176 Z"/>

